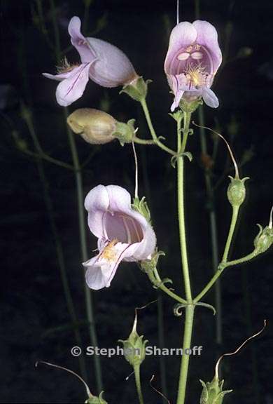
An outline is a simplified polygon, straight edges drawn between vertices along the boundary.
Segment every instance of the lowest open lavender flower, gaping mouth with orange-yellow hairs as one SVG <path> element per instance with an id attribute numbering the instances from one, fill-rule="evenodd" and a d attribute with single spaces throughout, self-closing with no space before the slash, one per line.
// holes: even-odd
<path id="1" fill-rule="evenodd" d="M 83 263 L 87 285 L 109 288 L 121 261 L 151 259 L 155 233 L 146 218 L 131 207 L 131 196 L 118 185 L 98 185 L 85 198 L 88 226 L 98 238 L 99 253 Z"/>

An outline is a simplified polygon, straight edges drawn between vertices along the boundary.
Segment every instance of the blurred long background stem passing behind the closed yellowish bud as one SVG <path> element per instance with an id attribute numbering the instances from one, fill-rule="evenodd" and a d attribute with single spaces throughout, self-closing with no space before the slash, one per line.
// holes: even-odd
<path id="1" fill-rule="evenodd" d="M 50 0 L 50 11 L 52 16 L 53 22 L 53 29 L 55 34 L 55 55 L 56 59 L 60 58 L 61 55 L 61 48 L 60 48 L 60 41 L 59 41 L 59 28 L 57 25 L 56 19 L 56 8 L 55 8 L 55 1 Z M 68 116 L 67 109 L 64 108 L 64 121 L 66 122 Z M 74 175 L 76 181 L 76 194 L 78 199 L 78 225 L 79 225 L 79 232 L 80 232 L 80 249 L 81 249 L 81 256 L 82 260 L 86 261 L 88 258 L 87 255 L 87 241 L 86 241 L 86 233 L 85 233 L 85 212 L 84 212 L 84 198 L 83 198 L 83 177 L 80 170 L 80 161 L 78 159 L 78 151 L 76 148 L 75 138 L 73 133 L 71 132 L 69 126 L 66 125 L 69 145 L 71 149 L 71 156 L 73 160 L 73 167 L 74 167 Z M 83 276 L 85 277 L 85 271 L 83 269 Z M 97 346 L 97 332 L 94 323 L 94 313 L 93 313 L 93 302 L 92 302 L 92 295 L 90 289 L 87 287 L 87 284 L 84 281 L 84 290 L 85 290 L 85 305 L 87 311 L 87 320 L 89 323 L 88 330 L 90 334 L 90 341 L 92 346 Z M 99 355 L 94 356 L 94 369 L 96 375 L 96 384 L 98 391 L 102 391 L 102 370 L 100 366 L 100 359 Z"/>

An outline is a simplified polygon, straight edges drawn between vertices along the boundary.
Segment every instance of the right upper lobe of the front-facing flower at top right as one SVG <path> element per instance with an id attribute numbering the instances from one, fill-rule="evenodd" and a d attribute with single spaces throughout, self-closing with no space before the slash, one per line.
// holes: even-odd
<path id="1" fill-rule="evenodd" d="M 218 44 L 218 34 L 213 25 L 207 21 L 197 20 L 193 22 L 193 26 L 197 31 L 197 43 L 207 48 L 214 62 L 214 73 L 222 62 L 222 53 Z"/>

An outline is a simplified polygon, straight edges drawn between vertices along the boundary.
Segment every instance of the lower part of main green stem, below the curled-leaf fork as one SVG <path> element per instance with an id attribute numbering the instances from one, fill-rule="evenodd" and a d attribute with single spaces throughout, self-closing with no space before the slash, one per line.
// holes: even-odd
<path id="1" fill-rule="evenodd" d="M 183 356 L 181 361 L 181 370 L 179 377 L 179 395 L 177 397 L 177 404 L 185 403 L 186 396 L 186 384 L 188 378 L 188 365 L 190 361 L 190 355 L 187 355 L 186 349 L 190 349 L 192 334 L 193 334 L 193 316 L 195 307 L 193 304 L 189 304 L 186 307 L 186 319 L 185 319 L 185 329 L 183 337 Z"/>

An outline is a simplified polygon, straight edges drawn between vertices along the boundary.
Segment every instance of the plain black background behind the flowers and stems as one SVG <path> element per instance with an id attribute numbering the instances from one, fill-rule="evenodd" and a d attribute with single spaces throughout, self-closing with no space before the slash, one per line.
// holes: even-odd
<path id="1" fill-rule="evenodd" d="M 94 35 L 109 41 L 127 53 L 139 74 L 153 79 L 149 86 L 151 108 L 158 135 L 165 135 L 175 145 L 175 125 L 168 116 L 172 96 L 165 79 L 163 63 L 170 29 L 176 23 L 175 1 L 99 1 L 93 0 L 86 18 L 85 36 Z M 31 112 L 34 130 L 45 152 L 71 163 L 62 107 L 55 100 L 56 82 L 45 79 L 42 72 L 55 72 L 52 2 L 42 1 L 44 27 L 36 18 L 37 1 L 1 1 L 1 403 L 83 403 L 84 387 L 73 376 L 46 368 L 35 369 L 38 360 L 50 361 L 79 372 L 78 359 L 70 354 L 75 345 L 73 326 L 66 309 L 55 238 L 45 207 L 41 163 L 27 155 L 34 152 L 29 128 L 22 118 L 22 104 Z M 83 1 L 55 1 L 62 50 L 69 46 L 67 25 L 73 15 L 83 19 Z M 255 223 L 268 224 L 272 205 L 272 38 L 273 4 L 271 1 L 200 1 L 200 18 L 216 26 L 227 63 L 219 72 L 214 90 L 220 100 L 217 110 L 204 106 L 208 126 L 218 128 L 232 144 L 241 175 L 246 183 L 247 198 L 241 209 L 232 257 L 250 252 L 258 232 Z M 195 20 L 194 1 L 181 1 L 181 20 Z M 228 34 L 230 33 L 230 35 Z M 227 38 L 230 36 L 229 46 Z M 248 57 L 244 47 L 251 48 Z M 78 61 L 75 49 L 66 53 Z M 104 109 L 120 121 L 137 119 L 139 135 L 149 137 L 139 105 L 118 89 L 108 90 L 88 83 L 83 97 L 69 108 Z M 193 117 L 198 122 L 198 114 Z M 207 132 L 208 150 L 214 141 Z M 83 172 L 84 193 L 97 184 L 119 184 L 134 191 L 132 149 L 118 142 L 91 147 L 76 138 L 80 161 L 90 159 Z M 212 274 L 209 208 L 205 191 L 204 166 L 200 156 L 200 135 L 190 137 L 188 149 L 193 163 L 186 163 L 186 213 L 188 251 L 197 294 Z M 160 262 L 162 277 L 174 281 L 183 293 L 178 227 L 176 222 L 176 175 L 169 156 L 155 147 L 137 147 L 141 166 L 140 194 L 146 195 L 160 249 L 167 256 Z M 227 160 L 228 159 L 228 160 Z M 226 161 L 228 161 L 228 166 Z M 223 253 L 231 208 L 226 198 L 230 159 L 223 142 L 211 170 L 216 184 L 218 242 Z M 80 265 L 77 201 L 73 172 L 43 162 L 52 201 L 52 217 L 62 241 L 66 271 L 76 314 L 82 322 L 83 346 L 90 344 L 85 325 L 83 276 Z M 96 240 L 88 234 L 90 257 Z M 257 332 L 264 318 L 272 317 L 272 252 L 253 262 L 230 268 L 221 282 L 223 304 L 223 344 L 216 346 L 216 321 L 211 311 L 196 310 L 193 345 L 202 345 L 202 356 L 193 357 L 190 365 L 188 399 L 198 403 L 199 379 L 214 376 L 218 355 L 234 350 L 251 333 Z M 134 307 L 158 297 L 145 274 L 136 264 L 121 264 L 111 288 L 94 292 L 99 346 L 116 346 L 132 328 Z M 205 298 L 214 304 L 214 292 Z M 173 302 L 162 297 L 165 346 L 179 347 L 183 335 L 183 318 L 172 314 Z M 139 312 L 139 333 L 158 342 L 158 307 L 152 304 Z M 234 393 L 226 403 L 273 403 L 272 329 L 270 322 L 262 336 L 251 342 L 237 356 L 223 361 L 226 389 Z M 126 382 L 131 368 L 122 357 L 102 358 L 105 398 L 112 404 L 137 403 L 134 377 Z M 93 360 L 86 358 L 87 382 L 95 389 Z M 179 358 L 165 357 L 167 396 L 175 403 L 179 375 Z M 146 403 L 161 403 L 160 396 L 149 386 L 160 387 L 159 357 L 149 356 L 141 366 Z"/>

